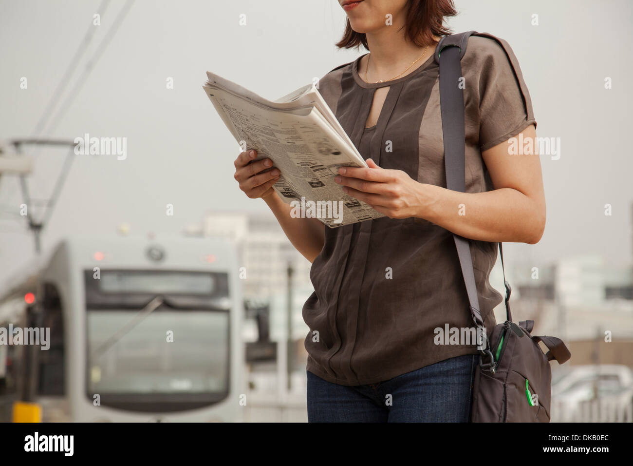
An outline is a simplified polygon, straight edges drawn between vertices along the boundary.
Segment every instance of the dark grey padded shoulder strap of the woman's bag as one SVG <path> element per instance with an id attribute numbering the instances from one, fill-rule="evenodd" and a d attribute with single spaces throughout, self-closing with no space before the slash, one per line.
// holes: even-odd
<path id="1" fill-rule="evenodd" d="M 466 191 L 465 168 L 465 117 L 464 95 L 460 86 L 461 57 L 466 53 L 468 37 L 477 34 L 475 31 L 461 32 L 452 36 L 444 36 L 437 44 L 435 60 L 439 63 L 439 96 L 442 116 L 442 136 L 444 138 L 444 164 L 446 166 L 446 188 L 453 191 Z M 461 273 L 464 277 L 470 313 L 477 327 L 485 327 L 479 309 L 479 297 L 475 283 L 470 241 L 463 236 L 453 234 Z M 503 265 L 503 249 L 499 244 L 501 269 L 506 288 L 506 317 L 512 321 L 510 313 L 510 283 L 506 280 Z"/>

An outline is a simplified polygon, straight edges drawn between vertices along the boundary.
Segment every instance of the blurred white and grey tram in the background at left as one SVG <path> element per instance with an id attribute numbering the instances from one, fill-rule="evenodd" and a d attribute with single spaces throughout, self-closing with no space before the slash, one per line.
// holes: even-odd
<path id="1" fill-rule="evenodd" d="M 237 271 L 219 238 L 63 240 L 0 297 L 0 420 L 241 420 Z"/>

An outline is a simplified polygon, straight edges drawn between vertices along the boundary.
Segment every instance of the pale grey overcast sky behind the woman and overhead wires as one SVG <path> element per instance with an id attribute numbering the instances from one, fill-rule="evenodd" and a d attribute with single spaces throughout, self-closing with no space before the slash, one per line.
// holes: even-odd
<path id="1" fill-rule="evenodd" d="M 99 4 L 0 0 L 0 139 L 32 134 Z M 123 4 L 111 1 L 73 80 Z M 537 134 L 561 138 L 560 160 L 541 157 L 545 234 L 537 245 L 508 244 L 508 262 L 538 266 L 592 253 L 612 264 L 630 261 L 632 3 L 456 0 L 456 6 L 460 15 L 450 22 L 456 32 L 490 32 L 510 42 L 530 89 Z M 246 26 L 239 25 L 241 13 Z M 534 13 L 537 26 L 530 24 Z M 336 0 L 135 1 L 72 107 L 53 133 L 44 133 L 125 137 L 127 159 L 77 156 L 44 246 L 69 233 L 114 233 L 122 222 L 141 235 L 179 233 L 209 210 L 266 209 L 232 177 L 237 145 L 201 89 L 204 72 L 278 98 L 365 53 L 335 48 L 344 19 Z M 22 77 L 28 89 L 20 89 Z M 173 89 L 166 89 L 168 77 Z M 613 81 L 610 90 L 605 77 Z M 63 155 L 37 152 L 34 197 L 49 195 Z M 4 176 L 0 282 L 33 255 L 32 238 L 15 215 L 21 202 L 17 180 Z M 166 204 L 174 206 L 172 217 Z"/>

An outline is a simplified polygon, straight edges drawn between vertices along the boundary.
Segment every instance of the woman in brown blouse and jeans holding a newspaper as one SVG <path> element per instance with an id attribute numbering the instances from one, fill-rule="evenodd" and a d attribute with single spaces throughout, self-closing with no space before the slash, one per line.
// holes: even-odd
<path id="1" fill-rule="evenodd" d="M 303 308 L 308 420 L 467 422 L 477 347 L 437 338 L 472 327 L 453 233 L 471 240 L 490 329 L 502 299 L 489 283 L 496 242 L 534 244 L 544 230 L 539 157 L 508 150 L 511 138 L 536 137 L 530 96 L 505 42 L 470 37 L 461 60 L 466 192 L 447 190 L 433 54 L 449 34 L 442 25 L 456 14 L 453 2 L 339 4 L 348 22 L 337 46 L 362 44 L 370 53 L 329 72 L 318 88 L 368 168 L 342 168 L 335 181 L 385 216 L 332 229 L 292 218 L 273 191 L 279 170 L 270 160 L 235 160 L 241 189 L 265 200 L 312 262 L 315 292 Z"/>

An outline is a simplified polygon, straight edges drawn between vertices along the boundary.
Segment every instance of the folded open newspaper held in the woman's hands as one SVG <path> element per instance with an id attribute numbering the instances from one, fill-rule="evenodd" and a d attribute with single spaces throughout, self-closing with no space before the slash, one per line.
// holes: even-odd
<path id="1" fill-rule="evenodd" d="M 281 172 L 273 188 L 301 216 L 330 228 L 383 217 L 334 183 L 339 167 L 365 160 L 313 84 L 269 101 L 207 72 L 204 91 L 242 150 L 273 161 Z"/>

